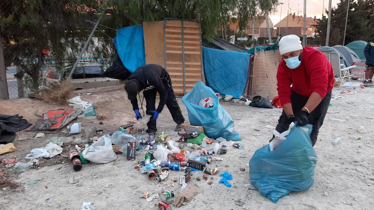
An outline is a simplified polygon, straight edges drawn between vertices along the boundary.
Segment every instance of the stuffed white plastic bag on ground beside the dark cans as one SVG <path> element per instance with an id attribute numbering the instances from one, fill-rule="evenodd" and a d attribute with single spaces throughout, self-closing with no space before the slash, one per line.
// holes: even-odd
<path id="1" fill-rule="evenodd" d="M 84 158 L 94 163 L 109 163 L 117 158 L 108 134 L 101 136 L 95 143 L 87 147 L 82 152 L 82 155 Z"/>

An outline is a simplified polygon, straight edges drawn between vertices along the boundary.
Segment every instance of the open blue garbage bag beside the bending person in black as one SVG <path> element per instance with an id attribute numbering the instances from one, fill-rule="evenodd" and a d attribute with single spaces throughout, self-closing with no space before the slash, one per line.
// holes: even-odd
<path id="1" fill-rule="evenodd" d="M 201 99 L 213 98 L 213 107 L 199 106 Z M 229 113 L 220 105 L 220 100 L 210 87 L 197 81 L 193 89 L 182 98 L 187 108 L 188 119 L 193 126 L 203 126 L 204 133 L 209 138 L 223 137 L 226 140 L 240 141 L 239 133 L 234 130 L 234 121 Z"/>

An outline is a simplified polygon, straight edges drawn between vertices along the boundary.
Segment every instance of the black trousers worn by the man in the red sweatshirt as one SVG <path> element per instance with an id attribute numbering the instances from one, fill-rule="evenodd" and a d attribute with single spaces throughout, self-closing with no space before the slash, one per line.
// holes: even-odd
<path id="1" fill-rule="evenodd" d="M 302 96 L 293 90 L 291 90 L 291 104 L 292 111 L 296 115 L 301 109 L 305 106 L 309 97 Z M 312 141 L 313 146 L 316 144 L 319 128 L 322 127 L 324 119 L 327 113 L 328 106 L 331 100 L 331 91 L 328 92 L 325 98 L 318 104 L 318 106 L 309 114 L 309 124 L 313 125 L 312 133 L 310 134 L 310 140 Z M 287 115 L 282 111 L 281 117 L 279 117 L 278 125 L 275 130 L 279 133 L 285 132 L 289 128 L 289 122 Z"/>

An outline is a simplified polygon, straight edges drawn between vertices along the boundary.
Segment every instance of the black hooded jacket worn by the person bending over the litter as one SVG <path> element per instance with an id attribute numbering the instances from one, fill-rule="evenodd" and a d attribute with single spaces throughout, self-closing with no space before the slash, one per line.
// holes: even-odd
<path id="1" fill-rule="evenodd" d="M 160 94 L 160 103 L 157 111 L 161 112 L 165 106 L 168 98 L 168 91 L 165 85 L 165 75 L 168 75 L 165 68 L 157 64 L 148 64 L 137 68 L 128 80 L 135 81 L 138 84 L 139 90 L 156 89 Z M 168 81 L 166 81 L 168 83 Z M 136 98 L 136 97 L 135 97 Z M 138 100 L 131 100 L 133 110 L 139 109 Z"/>

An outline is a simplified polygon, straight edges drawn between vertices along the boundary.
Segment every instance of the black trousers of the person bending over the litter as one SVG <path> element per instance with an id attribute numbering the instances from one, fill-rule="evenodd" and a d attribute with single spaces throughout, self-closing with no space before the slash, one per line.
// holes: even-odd
<path id="1" fill-rule="evenodd" d="M 166 99 L 165 105 L 168 107 L 169 112 L 174 122 L 177 124 L 183 124 L 184 117 L 182 115 L 181 109 L 179 108 L 178 102 L 175 99 L 175 94 L 174 94 L 173 87 L 171 85 L 171 78 L 169 74 L 165 75 L 163 82 L 164 82 L 166 89 L 168 90 L 168 99 Z M 146 114 L 152 114 L 152 112 L 150 111 L 156 110 L 156 94 L 157 94 L 157 90 L 154 88 L 143 91 L 144 99 L 145 99 L 145 102 L 147 103 L 147 105 L 145 105 Z M 147 123 L 147 126 L 148 126 L 148 129 L 146 130 L 147 133 L 157 132 L 156 121 L 152 121 L 152 118 Z"/>

